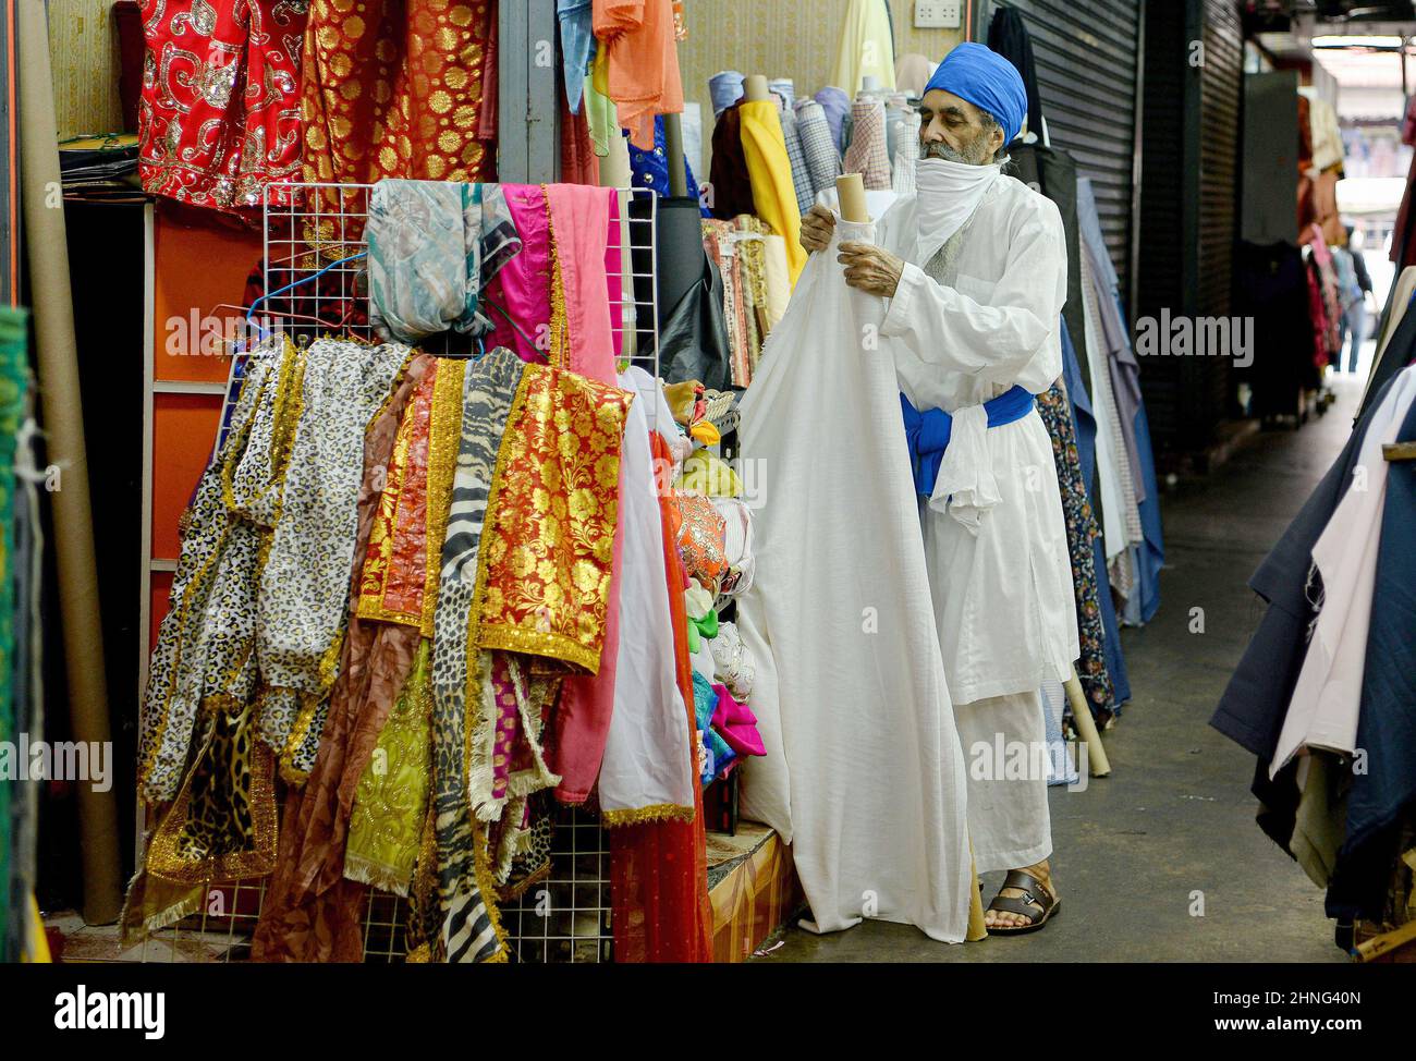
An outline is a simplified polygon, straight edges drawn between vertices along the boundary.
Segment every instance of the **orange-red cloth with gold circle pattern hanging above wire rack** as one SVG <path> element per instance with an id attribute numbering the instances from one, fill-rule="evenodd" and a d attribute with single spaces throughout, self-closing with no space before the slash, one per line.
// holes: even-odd
<path id="1" fill-rule="evenodd" d="M 484 0 L 310 0 L 304 180 L 491 180 L 494 152 L 477 133 L 483 67 L 496 61 L 487 48 L 493 17 Z M 337 190 L 320 195 L 326 208 L 338 207 Z M 306 238 L 357 239 L 348 228 L 336 212 Z"/>

